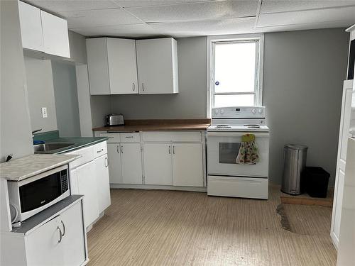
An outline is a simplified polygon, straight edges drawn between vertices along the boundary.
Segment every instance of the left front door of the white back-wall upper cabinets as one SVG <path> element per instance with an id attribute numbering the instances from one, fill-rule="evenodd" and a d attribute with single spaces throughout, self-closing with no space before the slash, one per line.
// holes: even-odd
<path id="1" fill-rule="evenodd" d="M 138 94 L 136 41 L 107 38 L 111 94 Z"/>

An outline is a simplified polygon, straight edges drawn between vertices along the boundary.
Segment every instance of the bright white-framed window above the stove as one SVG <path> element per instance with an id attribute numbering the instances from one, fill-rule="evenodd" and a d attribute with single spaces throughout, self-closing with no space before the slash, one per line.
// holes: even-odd
<path id="1" fill-rule="evenodd" d="M 214 37 L 215 38 L 215 37 Z M 207 109 L 261 105 L 263 35 L 222 36 L 209 42 Z"/>

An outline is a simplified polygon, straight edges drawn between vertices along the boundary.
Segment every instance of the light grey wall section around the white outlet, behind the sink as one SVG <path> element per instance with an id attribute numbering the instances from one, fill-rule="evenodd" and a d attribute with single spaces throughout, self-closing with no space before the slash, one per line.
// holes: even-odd
<path id="1" fill-rule="evenodd" d="M 25 65 L 31 128 L 55 131 L 58 127 L 50 60 L 25 57 Z M 42 107 L 47 107 L 48 118 L 42 117 Z"/>

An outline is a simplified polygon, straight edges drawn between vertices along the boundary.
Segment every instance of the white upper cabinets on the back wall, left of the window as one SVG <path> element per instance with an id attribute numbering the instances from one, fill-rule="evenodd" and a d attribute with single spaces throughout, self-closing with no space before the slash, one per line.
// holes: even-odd
<path id="1" fill-rule="evenodd" d="M 173 38 L 87 39 L 90 94 L 178 93 L 178 48 Z"/>

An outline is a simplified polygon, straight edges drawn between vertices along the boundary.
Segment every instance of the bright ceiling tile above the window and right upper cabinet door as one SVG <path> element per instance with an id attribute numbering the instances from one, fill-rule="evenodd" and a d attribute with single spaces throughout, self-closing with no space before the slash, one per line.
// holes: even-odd
<path id="1" fill-rule="evenodd" d="M 253 32 L 255 18 L 229 18 L 217 21 L 192 21 L 150 24 L 158 32 L 173 37 L 238 34 Z"/>

